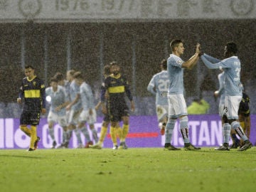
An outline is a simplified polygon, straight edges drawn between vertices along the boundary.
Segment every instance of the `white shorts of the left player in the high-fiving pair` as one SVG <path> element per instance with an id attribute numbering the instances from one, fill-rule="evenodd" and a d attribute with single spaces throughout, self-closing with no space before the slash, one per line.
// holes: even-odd
<path id="1" fill-rule="evenodd" d="M 169 117 L 180 117 L 183 115 L 188 115 L 186 102 L 183 94 L 168 95 L 169 103 Z"/>

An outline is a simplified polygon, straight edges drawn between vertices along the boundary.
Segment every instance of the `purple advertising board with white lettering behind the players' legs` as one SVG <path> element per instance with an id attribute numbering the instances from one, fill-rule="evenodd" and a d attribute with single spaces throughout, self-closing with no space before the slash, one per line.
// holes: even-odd
<path id="1" fill-rule="evenodd" d="M 191 143 L 196 146 L 219 146 L 223 143 L 222 125 L 220 117 L 216 114 L 208 115 L 189 115 L 189 134 Z M 97 118 L 95 128 L 100 135 L 102 117 Z M 251 124 L 256 123 L 256 115 L 251 116 Z M 0 119 L 0 149 L 26 149 L 29 146 L 29 138 L 20 129 L 18 129 L 18 119 Z M 183 139 L 178 131 L 178 122 L 176 122 L 172 144 L 183 147 Z M 61 143 L 62 128 L 56 124 L 54 127 L 55 139 L 58 144 Z M 39 149 L 50 149 L 52 140 L 48 134 L 47 119 L 41 119 L 38 126 L 38 136 L 41 137 Z M 251 142 L 256 142 L 256 129 L 252 127 L 250 134 Z M 85 137 L 82 136 L 82 142 L 85 144 Z M 156 116 L 132 116 L 130 117 L 130 129 L 127 136 L 129 148 L 134 147 L 162 147 L 164 146 L 164 136 L 161 136 L 158 128 Z M 77 138 L 73 134 L 70 140 L 70 148 L 78 146 Z M 105 148 L 112 148 L 110 135 L 104 142 Z"/>

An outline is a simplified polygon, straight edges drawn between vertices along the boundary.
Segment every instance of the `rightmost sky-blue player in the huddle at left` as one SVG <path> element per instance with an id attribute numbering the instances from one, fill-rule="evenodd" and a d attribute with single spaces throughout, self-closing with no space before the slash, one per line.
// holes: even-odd
<path id="1" fill-rule="evenodd" d="M 80 117 L 78 120 L 78 129 L 85 135 L 87 139 L 87 144 L 85 148 L 89 148 L 89 145 L 92 145 L 92 141 L 90 139 L 89 132 L 85 123 L 89 124 L 90 130 L 92 131 L 92 137 L 95 142 L 98 142 L 97 132 L 95 130 L 95 122 L 96 122 L 96 111 L 94 107 L 94 97 L 92 95 L 92 89 L 90 85 L 88 85 L 84 78 L 82 77 L 82 73 L 80 71 L 74 74 L 75 83 L 80 86 L 80 98 L 82 102 L 82 112 L 80 113 Z M 79 142 L 79 140 L 78 140 Z"/>

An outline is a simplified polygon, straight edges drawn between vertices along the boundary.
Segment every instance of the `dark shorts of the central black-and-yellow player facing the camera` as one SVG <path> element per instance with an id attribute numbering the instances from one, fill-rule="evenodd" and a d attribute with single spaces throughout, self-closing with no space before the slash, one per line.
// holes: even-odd
<path id="1" fill-rule="evenodd" d="M 129 117 L 129 108 L 126 103 L 112 103 L 110 104 L 110 120 L 112 122 L 119 122 L 122 117 Z"/>

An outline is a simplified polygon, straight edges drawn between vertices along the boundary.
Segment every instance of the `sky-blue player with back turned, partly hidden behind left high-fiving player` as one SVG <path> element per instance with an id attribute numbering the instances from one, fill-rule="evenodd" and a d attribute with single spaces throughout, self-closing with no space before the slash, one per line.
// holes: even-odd
<path id="1" fill-rule="evenodd" d="M 156 116 L 159 122 L 161 135 L 164 135 L 168 119 L 167 90 L 169 87 L 169 77 L 167 73 L 167 60 L 161 60 L 161 72 L 156 73 L 150 80 L 147 90 L 156 96 Z"/>

